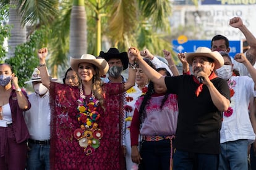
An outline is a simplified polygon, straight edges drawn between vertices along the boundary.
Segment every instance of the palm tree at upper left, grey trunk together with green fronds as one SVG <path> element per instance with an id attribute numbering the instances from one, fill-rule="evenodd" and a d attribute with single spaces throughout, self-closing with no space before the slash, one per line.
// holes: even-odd
<path id="1" fill-rule="evenodd" d="M 27 41 L 27 24 L 30 33 L 41 25 L 49 25 L 58 14 L 58 0 L 2 0 L 1 6 L 10 4 L 9 25 L 12 25 L 11 37 L 8 41 L 8 57 L 14 57 L 15 47 Z"/>

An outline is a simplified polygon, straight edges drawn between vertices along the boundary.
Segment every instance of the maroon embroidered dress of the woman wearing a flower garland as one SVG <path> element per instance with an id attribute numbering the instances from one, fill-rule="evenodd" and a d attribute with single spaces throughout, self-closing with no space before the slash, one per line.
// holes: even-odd
<path id="1" fill-rule="evenodd" d="M 103 132 L 100 146 L 90 155 L 85 155 L 74 131 L 80 128 L 77 121 L 80 92 L 78 87 L 51 83 L 51 169 L 124 169 L 121 148 L 124 83 L 106 83 L 103 86 L 105 111 L 100 113 L 98 127 Z M 117 95 L 119 94 L 119 95 Z M 86 100 L 92 95 L 86 95 Z"/>

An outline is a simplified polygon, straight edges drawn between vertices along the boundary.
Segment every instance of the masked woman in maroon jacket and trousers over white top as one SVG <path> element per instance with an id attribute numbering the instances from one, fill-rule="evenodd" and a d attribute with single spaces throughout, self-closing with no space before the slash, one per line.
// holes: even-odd
<path id="1" fill-rule="evenodd" d="M 11 65 L 0 64 L 0 169 L 25 169 L 29 133 L 23 111 L 31 107 Z"/>

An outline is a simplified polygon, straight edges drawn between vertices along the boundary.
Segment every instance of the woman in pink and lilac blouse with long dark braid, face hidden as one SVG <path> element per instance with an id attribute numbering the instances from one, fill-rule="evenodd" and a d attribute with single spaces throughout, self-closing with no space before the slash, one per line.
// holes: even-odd
<path id="1" fill-rule="evenodd" d="M 166 68 L 156 69 L 171 76 Z M 172 168 L 173 139 L 177 126 L 177 96 L 150 81 L 148 91 L 135 103 L 130 125 L 132 161 L 140 169 Z M 142 136 L 140 152 L 138 137 Z"/>

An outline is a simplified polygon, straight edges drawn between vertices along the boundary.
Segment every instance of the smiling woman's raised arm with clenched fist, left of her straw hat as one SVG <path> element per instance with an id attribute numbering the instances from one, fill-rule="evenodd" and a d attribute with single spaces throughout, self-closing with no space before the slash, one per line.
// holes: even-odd
<path id="1" fill-rule="evenodd" d="M 43 85 L 49 89 L 50 86 L 50 81 L 49 81 L 49 76 L 48 76 L 48 70 L 46 68 L 46 56 L 48 54 L 48 49 L 47 48 L 41 48 L 38 50 L 38 59 L 40 63 L 39 71 L 40 71 L 40 76 Z"/>

